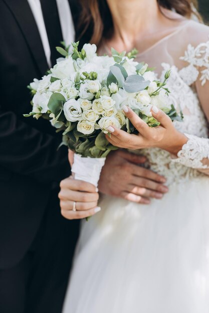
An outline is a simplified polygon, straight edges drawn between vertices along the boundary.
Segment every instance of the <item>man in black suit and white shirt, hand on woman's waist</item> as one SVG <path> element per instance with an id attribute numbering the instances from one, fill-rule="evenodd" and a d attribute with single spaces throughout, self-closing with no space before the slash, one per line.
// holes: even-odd
<path id="1" fill-rule="evenodd" d="M 57 196 L 60 180 L 70 174 L 67 149 L 57 151 L 61 138 L 48 121 L 23 114 L 30 110 L 27 84 L 55 64 L 61 40 L 77 37 L 77 2 L 0 0 L 1 313 L 62 310 L 78 234 L 78 222 L 61 216 Z M 87 32 L 82 42 L 89 37 Z M 160 186 L 149 174 L 142 177 L 143 168 L 136 174 L 134 163 L 140 160 L 128 153 L 119 160 L 110 155 L 101 191 L 124 196 L 127 190 L 138 202 L 141 193 L 154 196 Z M 118 181 L 118 169 L 125 179 Z"/>

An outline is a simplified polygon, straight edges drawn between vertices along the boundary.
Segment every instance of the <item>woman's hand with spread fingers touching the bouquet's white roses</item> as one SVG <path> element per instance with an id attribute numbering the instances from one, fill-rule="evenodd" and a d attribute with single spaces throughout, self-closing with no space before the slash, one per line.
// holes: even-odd
<path id="1" fill-rule="evenodd" d="M 152 107 L 151 112 L 153 117 L 160 122 L 160 125 L 157 127 L 149 127 L 129 107 L 123 106 L 123 110 L 139 133 L 129 134 L 110 126 L 108 130 L 111 132 L 111 136 L 106 135 L 106 138 L 113 145 L 128 149 L 159 147 L 177 155 L 182 145 L 188 140 L 183 133 L 175 129 L 170 117 L 156 106 Z"/>

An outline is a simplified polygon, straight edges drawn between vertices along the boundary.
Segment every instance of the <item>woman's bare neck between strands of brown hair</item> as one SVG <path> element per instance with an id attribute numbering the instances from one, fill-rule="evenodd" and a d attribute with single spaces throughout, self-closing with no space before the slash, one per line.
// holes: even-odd
<path id="1" fill-rule="evenodd" d="M 121 50 L 130 50 L 136 45 L 136 38 L 153 32 L 161 16 L 156 0 L 107 1 L 114 25 L 111 39 L 118 43 Z"/>

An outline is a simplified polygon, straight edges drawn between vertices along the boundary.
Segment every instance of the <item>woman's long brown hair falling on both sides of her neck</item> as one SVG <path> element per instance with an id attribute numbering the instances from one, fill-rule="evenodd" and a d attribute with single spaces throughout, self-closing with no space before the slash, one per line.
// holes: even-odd
<path id="1" fill-rule="evenodd" d="M 106 0 L 80 0 L 81 3 L 81 33 L 90 27 L 92 31 L 91 43 L 99 45 L 103 37 L 108 38 L 113 29 L 112 16 Z M 174 9 L 187 18 L 192 15 L 201 20 L 197 12 L 197 0 L 157 0 L 158 6 Z M 161 10 L 162 12 L 162 10 Z M 163 14 L 163 12 L 162 12 Z"/>

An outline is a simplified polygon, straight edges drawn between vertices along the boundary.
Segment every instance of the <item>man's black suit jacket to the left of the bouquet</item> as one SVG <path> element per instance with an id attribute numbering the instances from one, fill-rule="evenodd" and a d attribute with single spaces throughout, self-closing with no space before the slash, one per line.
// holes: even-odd
<path id="1" fill-rule="evenodd" d="M 70 1 L 75 23 L 77 1 Z M 85 39 L 83 38 L 85 41 Z M 23 117 L 27 89 L 48 68 L 27 0 L 0 0 L 0 268 L 16 264 L 33 241 L 53 185 L 70 174 L 67 149 L 50 123 Z M 54 189 L 54 192 L 57 190 Z"/>

